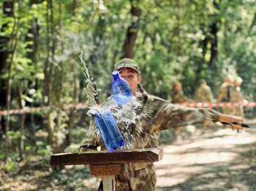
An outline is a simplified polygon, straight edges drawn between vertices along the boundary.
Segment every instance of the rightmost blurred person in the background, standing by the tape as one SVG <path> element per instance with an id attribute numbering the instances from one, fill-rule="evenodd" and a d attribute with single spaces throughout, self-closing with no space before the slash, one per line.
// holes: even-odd
<path id="1" fill-rule="evenodd" d="M 241 93 L 241 83 L 243 82 L 243 79 L 241 77 L 236 77 L 234 81 L 234 87 L 235 90 L 233 94 L 231 95 L 230 102 L 239 104 L 238 106 L 233 107 L 233 113 L 236 116 L 244 117 L 244 96 Z"/>

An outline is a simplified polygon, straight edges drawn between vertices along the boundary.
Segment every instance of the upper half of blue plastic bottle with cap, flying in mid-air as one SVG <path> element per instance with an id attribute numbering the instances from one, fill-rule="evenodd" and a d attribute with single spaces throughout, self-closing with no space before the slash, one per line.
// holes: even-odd
<path id="1" fill-rule="evenodd" d="M 119 71 L 113 71 L 112 94 L 113 99 L 118 105 L 127 104 L 132 99 L 132 88 L 124 78 L 119 74 Z"/>

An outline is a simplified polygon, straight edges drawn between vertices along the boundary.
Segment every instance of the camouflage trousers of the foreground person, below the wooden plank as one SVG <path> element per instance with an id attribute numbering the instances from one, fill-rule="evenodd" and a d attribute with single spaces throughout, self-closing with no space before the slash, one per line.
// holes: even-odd
<path id="1" fill-rule="evenodd" d="M 156 190 L 156 183 L 157 175 L 154 166 L 116 176 L 117 191 L 154 191 Z"/>

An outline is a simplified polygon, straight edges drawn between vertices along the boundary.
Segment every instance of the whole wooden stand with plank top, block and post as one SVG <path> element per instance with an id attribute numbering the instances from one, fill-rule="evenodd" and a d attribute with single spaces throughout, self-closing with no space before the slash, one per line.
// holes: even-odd
<path id="1" fill-rule="evenodd" d="M 103 190 L 116 191 L 115 175 L 123 172 L 123 164 L 158 162 L 162 155 L 162 148 L 60 153 L 50 156 L 50 165 L 90 165 L 91 176 L 103 176 Z"/>

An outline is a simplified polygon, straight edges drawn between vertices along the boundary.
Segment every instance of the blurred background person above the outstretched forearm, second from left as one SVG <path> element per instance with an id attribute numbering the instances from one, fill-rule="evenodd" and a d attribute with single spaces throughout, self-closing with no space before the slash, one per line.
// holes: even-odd
<path id="1" fill-rule="evenodd" d="M 212 103 L 214 101 L 214 95 L 211 92 L 211 87 L 207 85 L 206 80 L 202 79 L 200 81 L 200 87 L 195 90 L 194 100 L 195 102 L 200 103 Z"/>

